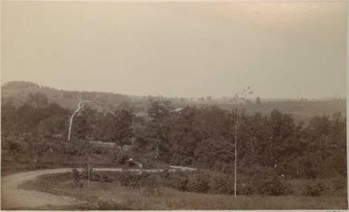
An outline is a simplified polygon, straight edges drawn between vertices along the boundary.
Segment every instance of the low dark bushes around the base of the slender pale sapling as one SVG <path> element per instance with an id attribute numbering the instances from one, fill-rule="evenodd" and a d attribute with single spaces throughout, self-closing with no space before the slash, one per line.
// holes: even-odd
<path id="1" fill-rule="evenodd" d="M 198 170 L 161 174 L 163 185 L 189 192 L 234 194 L 234 175 Z M 254 176 L 240 175 L 238 195 L 293 195 L 291 185 L 272 169 L 259 170 Z"/>

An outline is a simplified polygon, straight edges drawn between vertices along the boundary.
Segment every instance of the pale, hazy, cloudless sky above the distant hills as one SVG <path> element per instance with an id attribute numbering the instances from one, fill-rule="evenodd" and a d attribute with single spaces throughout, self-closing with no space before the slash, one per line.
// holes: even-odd
<path id="1" fill-rule="evenodd" d="M 1 1 L 1 84 L 130 95 L 346 95 L 346 3 Z"/>

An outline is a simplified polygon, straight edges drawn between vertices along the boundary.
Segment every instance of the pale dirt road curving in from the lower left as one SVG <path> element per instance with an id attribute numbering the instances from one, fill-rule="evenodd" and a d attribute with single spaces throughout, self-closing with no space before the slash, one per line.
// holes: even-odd
<path id="1" fill-rule="evenodd" d="M 18 188 L 25 181 L 31 181 L 43 174 L 57 174 L 71 172 L 71 168 L 45 169 L 33 172 L 22 172 L 1 176 L 1 210 L 9 209 L 31 209 L 42 206 L 67 206 L 78 204 L 77 199 L 71 197 L 52 195 L 46 192 L 35 190 L 23 190 Z M 121 172 L 121 168 L 94 168 L 96 171 Z M 130 171 L 140 171 L 140 169 L 129 169 Z M 188 167 L 170 166 L 170 171 L 193 171 Z M 161 172 L 163 169 L 143 169 L 144 172 Z"/>

